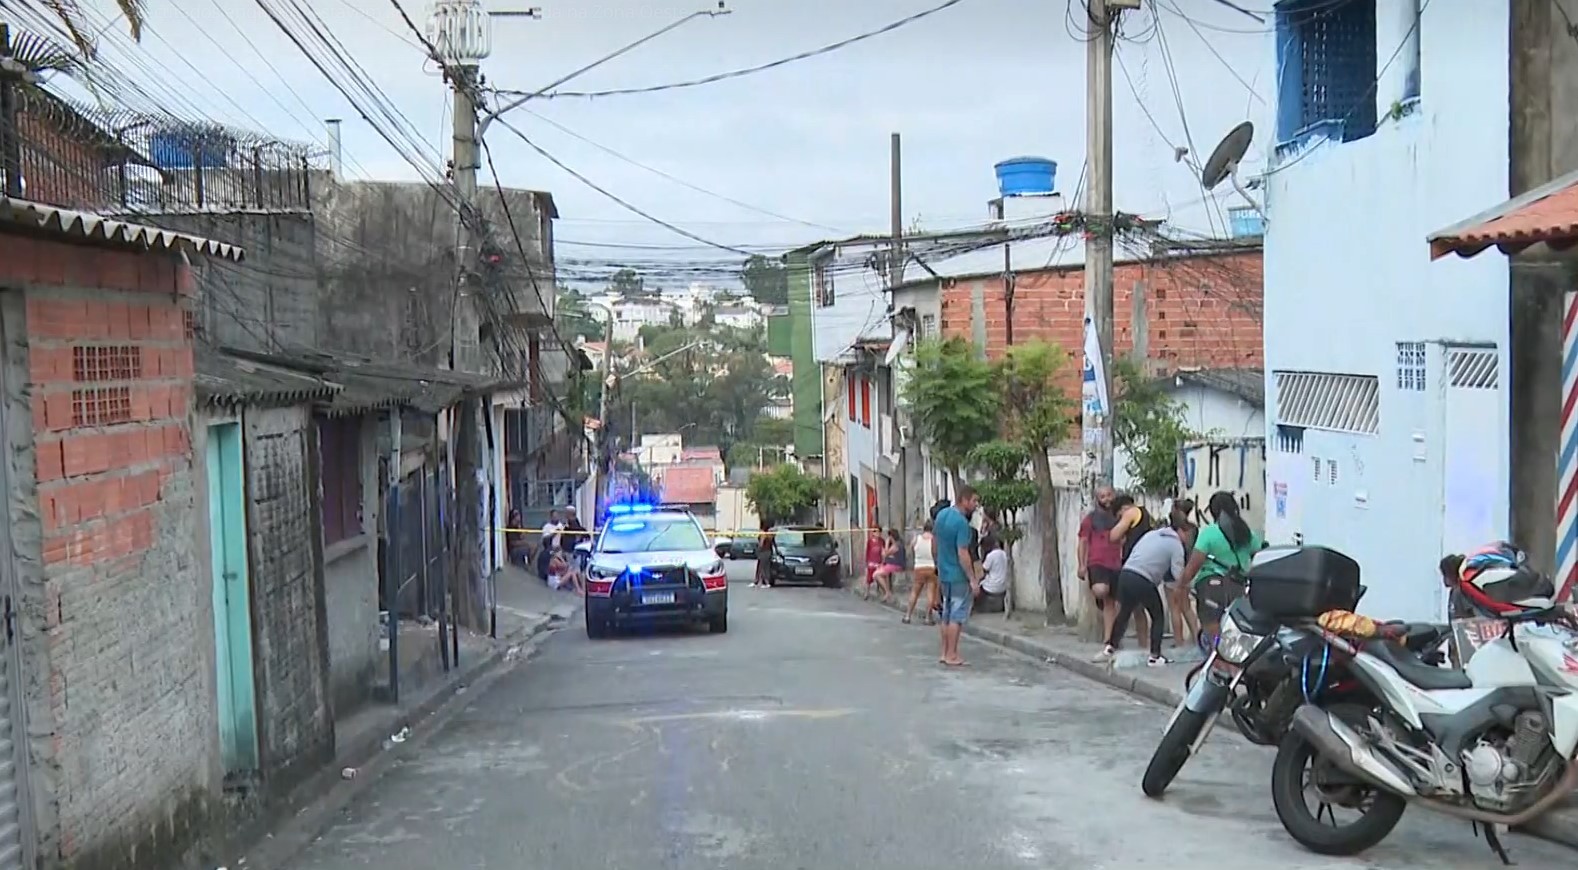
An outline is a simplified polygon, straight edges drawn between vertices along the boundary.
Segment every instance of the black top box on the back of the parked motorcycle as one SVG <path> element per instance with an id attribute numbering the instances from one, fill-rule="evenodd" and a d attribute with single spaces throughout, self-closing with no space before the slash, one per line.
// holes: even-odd
<path id="1" fill-rule="evenodd" d="M 1359 606 L 1359 562 L 1327 546 L 1262 549 L 1247 573 L 1250 605 L 1262 616 L 1313 619 Z"/>

